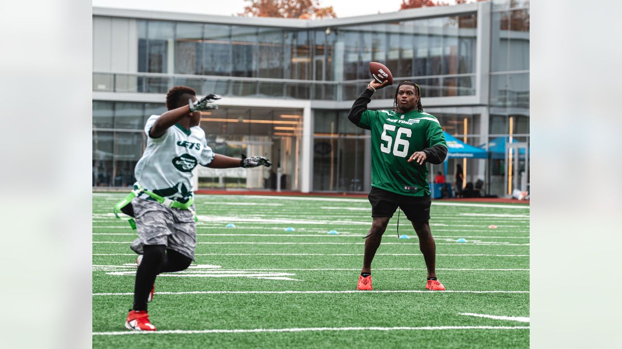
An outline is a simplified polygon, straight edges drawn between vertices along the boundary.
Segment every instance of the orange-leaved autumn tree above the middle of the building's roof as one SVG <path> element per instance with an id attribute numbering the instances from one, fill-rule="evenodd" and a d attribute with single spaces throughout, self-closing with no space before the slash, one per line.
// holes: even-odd
<path id="1" fill-rule="evenodd" d="M 244 17 L 281 17 L 299 19 L 335 18 L 332 6 L 320 7 L 319 0 L 245 0 Z"/>

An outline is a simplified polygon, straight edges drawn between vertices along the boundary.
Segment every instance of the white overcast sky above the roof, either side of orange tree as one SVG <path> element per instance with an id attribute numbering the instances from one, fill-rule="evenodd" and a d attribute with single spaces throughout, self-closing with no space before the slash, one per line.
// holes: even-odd
<path id="1" fill-rule="evenodd" d="M 450 4 L 455 0 L 445 0 Z M 402 0 L 320 0 L 320 6 L 333 6 L 337 17 L 396 12 Z M 93 6 L 121 7 L 170 12 L 194 12 L 231 16 L 242 12 L 244 0 L 93 0 Z"/>

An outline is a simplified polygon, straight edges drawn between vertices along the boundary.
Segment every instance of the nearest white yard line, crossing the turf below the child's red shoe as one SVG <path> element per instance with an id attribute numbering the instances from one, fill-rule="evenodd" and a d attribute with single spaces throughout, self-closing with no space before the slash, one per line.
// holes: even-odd
<path id="1" fill-rule="evenodd" d="M 528 330 L 529 326 L 423 326 L 423 327 L 305 327 L 293 329 L 234 329 L 234 330 L 160 330 L 160 331 L 118 331 L 93 332 L 93 335 L 135 335 L 146 334 L 190 335 L 198 333 L 261 333 L 261 332 L 318 332 L 318 331 L 396 331 L 396 330 Z"/>

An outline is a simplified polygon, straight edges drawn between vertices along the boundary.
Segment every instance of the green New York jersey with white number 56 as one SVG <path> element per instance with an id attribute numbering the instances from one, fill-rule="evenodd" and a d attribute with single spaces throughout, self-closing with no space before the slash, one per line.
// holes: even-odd
<path id="1" fill-rule="evenodd" d="M 427 166 L 407 160 L 434 145 L 447 148 L 439 120 L 417 110 L 368 110 L 358 127 L 371 130 L 371 186 L 402 195 L 430 195 Z"/>

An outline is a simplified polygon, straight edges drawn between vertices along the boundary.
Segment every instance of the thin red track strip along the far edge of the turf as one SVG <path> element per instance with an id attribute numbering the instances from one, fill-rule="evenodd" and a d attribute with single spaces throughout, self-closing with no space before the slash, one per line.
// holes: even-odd
<path id="1" fill-rule="evenodd" d="M 271 195 L 271 196 L 324 196 L 324 197 L 367 197 L 367 194 L 351 193 L 300 193 L 299 191 L 249 191 L 249 190 L 197 190 L 195 194 L 211 195 Z M 494 204 L 529 204 L 529 200 L 506 199 L 504 197 L 472 197 L 462 199 L 437 199 L 437 201 L 490 202 Z"/>

